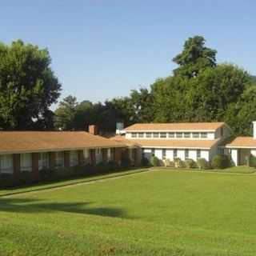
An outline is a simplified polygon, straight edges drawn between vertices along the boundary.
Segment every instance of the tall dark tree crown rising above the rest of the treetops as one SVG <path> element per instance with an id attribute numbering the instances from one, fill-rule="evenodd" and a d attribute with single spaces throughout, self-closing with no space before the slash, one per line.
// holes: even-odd
<path id="1" fill-rule="evenodd" d="M 173 61 L 179 65 L 174 70 L 174 75 L 194 78 L 207 67 L 216 66 L 217 51 L 207 48 L 205 42 L 202 36 L 186 40 L 182 53 L 173 58 Z"/>

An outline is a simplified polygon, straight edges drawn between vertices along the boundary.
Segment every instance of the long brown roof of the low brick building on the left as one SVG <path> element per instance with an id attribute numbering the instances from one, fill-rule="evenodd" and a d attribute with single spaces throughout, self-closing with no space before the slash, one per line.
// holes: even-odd
<path id="1" fill-rule="evenodd" d="M 0 132 L 0 154 L 122 146 L 125 145 L 85 131 Z"/>

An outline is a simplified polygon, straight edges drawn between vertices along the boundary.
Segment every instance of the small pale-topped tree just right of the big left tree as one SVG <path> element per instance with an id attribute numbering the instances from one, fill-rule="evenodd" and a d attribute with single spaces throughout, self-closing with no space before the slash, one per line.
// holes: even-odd
<path id="1" fill-rule="evenodd" d="M 59 103 L 57 110 L 55 110 L 55 127 L 57 129 L 74 130 L 74 116 L 77 105 L 77 98 L 71 95 Z"/>

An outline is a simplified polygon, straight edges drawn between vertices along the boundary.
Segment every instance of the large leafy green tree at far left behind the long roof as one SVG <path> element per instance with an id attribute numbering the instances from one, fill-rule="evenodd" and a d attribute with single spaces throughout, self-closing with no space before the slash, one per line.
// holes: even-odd
<path id="1" fill-rule="evenodd" d="M 61 84 L 50 68 L 48 50 L 24 44 L 0 44 L 0 129 L 42 130 L 53 125 L 50 106 Z"/>

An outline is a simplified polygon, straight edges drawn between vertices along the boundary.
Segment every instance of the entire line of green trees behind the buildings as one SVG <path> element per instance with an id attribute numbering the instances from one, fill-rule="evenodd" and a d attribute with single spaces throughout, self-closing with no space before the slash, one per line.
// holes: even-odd
<path id="1" fill-rule="evenodd" d="M 173 74 L 149 89 L 97 103 L 77 102 L 70 95 L 53 113 L 50 105 L 61 85 L 50 70 L 48 51 L 21 41 L 0 45 L 0 126 L 86 130 L 97 124 L 103 132 L 114 132 L 116 122 L 226 122 L 234 135 L 249 135 L 256 120 L 256 79 L 238 66 L 217 63 L 216 54 L 202 36 L 188 38 L 173 58 Z"/>

